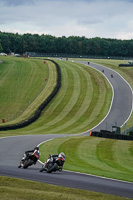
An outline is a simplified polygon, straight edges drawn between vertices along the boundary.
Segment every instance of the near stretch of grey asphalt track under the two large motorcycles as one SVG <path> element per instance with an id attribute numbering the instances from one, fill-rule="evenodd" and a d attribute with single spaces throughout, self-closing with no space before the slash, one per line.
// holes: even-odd
<path id="1" fill-rule="evenodd" d="M 64 137 L 65 135 L 62 136 Z M 0 175 L 133 198 L 133 183 L 69 171 L 62 171 L 61 173 L 55 172 L 52 174 L 46 172 L 41 173 L 39 172 L 39 169 L 41 168 L 40 163 L 37 163 L 37 165 L 31 166 L 28 169 L 17 168 L 25 149 L 32 149 L 33 146 L 36 146 L 40 142 L 55 137 L 60 137 L 60 135 L 1 138 Z"/>

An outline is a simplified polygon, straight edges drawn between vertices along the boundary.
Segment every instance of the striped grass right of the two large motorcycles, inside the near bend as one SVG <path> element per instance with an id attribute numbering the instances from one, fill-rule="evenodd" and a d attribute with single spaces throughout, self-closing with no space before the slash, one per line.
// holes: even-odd
<path id="1" fill-rule="evenodd" d="M 64 152 L 64 169 L 133 182 L 133 141 L 88 136 L 57 138 L 40 145 L 42 162 Z"/>

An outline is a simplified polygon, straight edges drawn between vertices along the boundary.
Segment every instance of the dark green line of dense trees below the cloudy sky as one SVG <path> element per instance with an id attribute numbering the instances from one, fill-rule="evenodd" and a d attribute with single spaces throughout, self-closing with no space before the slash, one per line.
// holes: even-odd
<path id="1" fill-rule="evenodd" d="M 84 36 L 55 37 L 38 34 L 0 32 L 0 51 L 77 54 L 88 56 L 133 57 L 133 39 L 86 38 Z"/>

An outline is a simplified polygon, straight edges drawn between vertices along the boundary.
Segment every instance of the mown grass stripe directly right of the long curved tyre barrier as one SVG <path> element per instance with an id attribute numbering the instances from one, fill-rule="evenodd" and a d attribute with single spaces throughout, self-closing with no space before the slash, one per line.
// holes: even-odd
<path id="1" fill-rule="evenodd" d="M 67 81 L 68 77 L 71 80 L 70 83 Z M 58 123 L 60 119 L 62 119 L 63 116 L 62 116 L 61 111 L 66 107 L 68 101 L 70 101 L 70 98 L 73 92 L 73 89 L 72 89 L 73 88 L 73 73 L 71 72 L 71 70 L 65 69 L 65 74 L 63 73 L 62 75 L 62 87 L 63 89 L 61 88 L 62 90 L 60 90 L 58 95 L 55 97 L 54 103 L 53 101 L 51 101 L 51 103 L 45 109 L 44 116 L 40 117 L 40 120 L 39 120 L 41 121 L 40 124 L 41 123 L 43 124 L 40 128 L 36 130 L 40 130 L 40 129 L 44 130 L 47 127 L 49 128 L 55 123 Z M 71 88 L 70 91 L 68 90 L 68 87 Z M 45 122 L 45 124 L 44 122 L 42 122 L 42 120 Z"/>

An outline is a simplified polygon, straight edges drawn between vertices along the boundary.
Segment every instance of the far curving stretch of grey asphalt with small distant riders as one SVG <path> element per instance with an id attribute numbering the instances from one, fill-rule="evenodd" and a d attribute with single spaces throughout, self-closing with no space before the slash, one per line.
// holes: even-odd
<path id="1" fill-rule="evenodd" d="M 82 62 L 87 65 L 87 62 Z M 121 127 L 129 118 L 132 112 L 133 92 L 129 84 L 114 70 L 98 65 L 89 63 L 89 66 L 100 71 L 110 82 L 114 97 L 112 99 L 111 109 L 106 118 L 93 130 L 112 131 L 112 126 Z M 104 70 L 104 72 L 102 72 Z M 113 77 L 111 77 L 113 75 Z"/>

